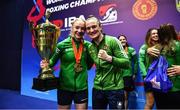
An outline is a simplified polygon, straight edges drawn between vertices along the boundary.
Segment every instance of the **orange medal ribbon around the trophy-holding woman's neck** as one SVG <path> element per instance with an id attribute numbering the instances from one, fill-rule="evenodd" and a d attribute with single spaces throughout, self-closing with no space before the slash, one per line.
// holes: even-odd
<path id="1" fill-rule="evenodd" d="M 73 46 L 73 50 L 74 50 L 74 56 L 76 59 L 76 63 L 80 63 L 82 51 L 83 51 L 83 41 L 82 40 L 80 41 L 79 48 L 77 49 L 74 39 L 72 38 L 72 46 Z"/>

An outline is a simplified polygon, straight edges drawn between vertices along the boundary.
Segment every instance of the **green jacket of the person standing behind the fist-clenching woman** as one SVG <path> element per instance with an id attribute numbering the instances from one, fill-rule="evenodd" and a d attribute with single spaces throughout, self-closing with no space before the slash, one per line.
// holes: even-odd
<path id="1" fill-rule="evenodd" d="M 137 74 L 137 54 L 136 50 L 133 47 L 128 47 L 128 58 L 129 61 L 131 62 L 131 66 L 129 69 L 125 69 L 123 72 L 123 77 L 126 76 L 132 76 Z"/>

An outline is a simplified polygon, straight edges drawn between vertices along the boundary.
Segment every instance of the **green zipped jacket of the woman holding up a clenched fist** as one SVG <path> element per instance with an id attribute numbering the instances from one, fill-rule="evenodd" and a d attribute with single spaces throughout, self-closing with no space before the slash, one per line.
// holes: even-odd
<path id="1" fill-rule="evenodd" d="M 106 50 L 112 56 L 112 62 L 98 58 L 100 49 Z M 98 90 L 118 90 L 124 88 L 122 68 L 130 67 L 130 62 L 117 38 L 104 35 L 103 40 L 97 45 L 92 41 L 89 53 L 96 65 L 94 88 Z"/>

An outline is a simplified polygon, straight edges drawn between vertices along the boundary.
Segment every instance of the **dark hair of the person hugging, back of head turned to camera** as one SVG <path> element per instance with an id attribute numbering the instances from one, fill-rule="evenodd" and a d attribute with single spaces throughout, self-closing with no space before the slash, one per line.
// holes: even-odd
<path id="1" fill-rule="evenodd" d="M 177 40 L 177 33 L 172 24 L 162 24 L 158 29 L 159 40 L 162 45 L 168 45 L 170 41 Z"/>

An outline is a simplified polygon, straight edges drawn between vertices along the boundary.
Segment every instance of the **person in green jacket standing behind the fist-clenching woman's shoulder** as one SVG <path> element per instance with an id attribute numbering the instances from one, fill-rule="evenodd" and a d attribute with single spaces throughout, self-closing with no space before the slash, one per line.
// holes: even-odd
<path id="1" fill-rule="evenodd" d="M 124 70 L 124 75 L 123 75 L 124 90 L 125 90 L 124 105 L 125 105 L 125 110 L 127 110 L 129 92 L 133 91 L 135 88 L 134 79 L 135 79 L 135 76 L 137 75 L 138 58 L 137 58 L 136 50 L 132 46 L 129 46 L 127 37 L 125 35 L 119 35 L 118 39 L 121 42 L 126 54 L 128 55 L 129 60 L 131 61 L 130 68 Z"/>

